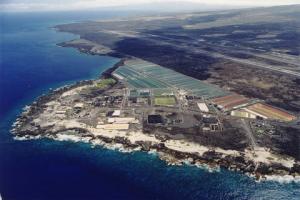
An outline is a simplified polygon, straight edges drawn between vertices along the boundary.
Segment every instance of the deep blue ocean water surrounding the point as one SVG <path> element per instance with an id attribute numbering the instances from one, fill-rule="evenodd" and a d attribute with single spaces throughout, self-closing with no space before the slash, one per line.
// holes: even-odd
<path id="1" fill-rule="evenodd" d="M 51 87 L 95 78 L 117 62 L 56 46 L 78 36 L 49 27 L 113 16 L 110 12 L 0 15 L 0 194 L 4 200 L 299 199 L 299 183 L 257 183 L 228 170 L 210 173 L 191 166 L 167 166 L 143 152 L 120 153 L 46 139 L 13 140 L 9 129 L 24 105 Z"/>

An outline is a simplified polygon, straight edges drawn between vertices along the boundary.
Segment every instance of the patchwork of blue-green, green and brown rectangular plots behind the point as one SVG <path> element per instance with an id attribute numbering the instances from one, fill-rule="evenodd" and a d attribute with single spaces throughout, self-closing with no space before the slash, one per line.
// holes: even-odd
<path id="1" fill-rule="evenodd" d="M 128 88 L 127 106 L 136 108 L 169 107 L 178 113 L 197 113 L 205 131 L 218 131 L 222 124 L 219 114 L 249 119 L 268 119 L 289 122 L 297 119 L 285 110 L 270 106 L 258 99 L 231 93 L 215 85 L 180 74 L 140 59 L 127 60 L 113 76 Z M 175 91 L 175 92 L 174 92 Z M 181 98 L 180 91 L 185 97 Z M 165 112 L 168 112 L 165 109 Z M 149 123 L 160 123 L 157 113 L 149 116 Z M 163 118 L 166 120 L 164 114 Z M 210 116 L 210 117 L 208 117 Z M 187 123 L 186 121 L 183 123 Z M 191 124 L 191 123 L 187 123 Z"/>

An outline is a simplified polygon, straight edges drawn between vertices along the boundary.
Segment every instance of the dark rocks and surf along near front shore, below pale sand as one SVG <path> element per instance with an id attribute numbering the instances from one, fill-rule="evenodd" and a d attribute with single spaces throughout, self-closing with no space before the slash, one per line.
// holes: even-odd
<path id="1" fill-rule="evenodd" d="M 69 133 L 76 133 L 70 135 Z M 68 134 L 64 134 L 68 133 Z M 78 136 L 78 134 L 81 134 Z M 215 152 L 214 150 L 205 152 L 202 156 L 193 153 L 180 152 L 167 148 L 164 143 L 151 144 L 147 141 L 138 141 L 132 144 L 127 138 L 116 137 L 108 138 L 103 136 L 94 136 L 83 129 L 66 129 L 57 133 L 44 133 L 42 135 L 20 135 L 16 134 L 16 140 L 41 139 L 49 138 L 57 141 L 84 142 L 92 146 L 101 146 L 108 149 L 119 150 L 121 152 L 144 151 L 156 152 L 160 159 L 164 160 L 168 165 L 184 165 L 189 164 L 197 167 L 207 167 L 209 170 L 218 171 L 219 168 L 228 169 L 244 173 L 255 180 L 282 180 L 300 181 L 300 165 L 293 168 L 284 168 L 279 165 L 257 164 L 250 160 L 245 160 L 241 155 L 230 156 Z"/>

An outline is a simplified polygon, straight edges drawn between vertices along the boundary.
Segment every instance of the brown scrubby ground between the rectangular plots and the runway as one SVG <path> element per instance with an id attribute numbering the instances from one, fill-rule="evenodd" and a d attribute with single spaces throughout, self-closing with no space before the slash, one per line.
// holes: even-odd
<path id="1" fill-rule="evenodd" d="M 299 80 L 278 72 L 243 66 L 229 61 L 209 69 L 208 82 L 250 98 L 259 98 L 273 106 L 300 112 Z"/>

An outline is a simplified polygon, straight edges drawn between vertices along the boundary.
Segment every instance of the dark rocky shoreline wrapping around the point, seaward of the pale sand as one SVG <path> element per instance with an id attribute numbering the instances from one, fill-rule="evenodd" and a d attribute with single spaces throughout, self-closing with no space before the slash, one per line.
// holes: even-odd
<path id="1" fill-rule="evenodd" d="M 79 49 L 80 50 L 80 49 Z M 83 50 L 81 50 L 83 51 Z M 89 52 L 93 53 L 93 52 Z M 111 78 L 111 73 L 119 66 L 123 65 L 123 59 L 116 63 L 112 68 L 102 73 L 101 78 Z M 116 80 L 117 81 L 117 80 Z M 93 85 L 92 80 L 80 81 L 73 85 L 64 86 L 56 90 L 50 91 L 47 95 L 39 97 L 30 106 L 24 109 L 24 112 L 17 118 L 11 132 L 16 139 L 36 139 L 36 138 L 51 138 L 54 140 L 69 140 L 74 142 L 87 142 L 94 146 L 101 145 L 108 148 L 125 149 L 126 151 L 141 150 L 145 152 L 157 152 L 162 160 L 165 160 L 171 165 L 182 165 L 189 163 L 196 166 L 209 166 L 212 169 L 224 168 L 234 171 L 239 171 L 249 176 L 255 177 L 256 180 L 268 179 L 274 175 L 279 177 L 288 176 L 293 180 L 299 180 L 300 177 L 300 162 L 295 161 L 292 166 L 287 167 L 279 162 L 263 163 L 256 162 L 255 155 L 250 158 L 246 152 L 221 150 L 218 148 L 205 147 L 202 153 L 186 152 L 177 150 L 178 148 L 170 148 L 166 145 L 169 141 L 155 134 L 143 134 L 145 137 L 153 137 L 153 141 L 137 140 L 132 142 L 130 137 L 120 135 L 115 137 L 107 137 L 105 134 L 95 134 L 91 129 L 75 125 L 63 129 L 55 129 L 55 125 L 41 127 L 34 123 L 34 119 L 38 118 L 44 112 L 47 103 L 58 99 L 65 92 L 76 88 Z M 173 142 L 173 141 L 171 141 Z M 187 145 L 192 144 L 187 142 Z M 201 147 L 202 148 L 202 147 Z M 251 151 L 249 149 L 249 151 Z M 227 153 L 229 152 L 229 153 Z M 251 152 L 250 152 L 251 153 Z M 253 152 L 252 152 L 253 153 Z M 247 154 L 247 155 L 246 155 Z M 282 161 L 285 162 L 285 161 Z"/>

